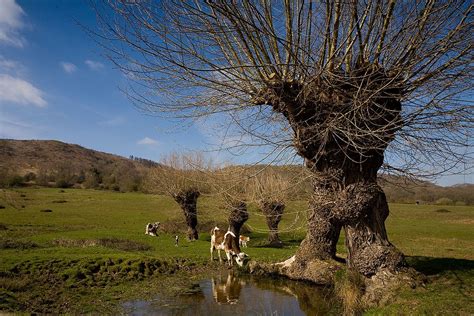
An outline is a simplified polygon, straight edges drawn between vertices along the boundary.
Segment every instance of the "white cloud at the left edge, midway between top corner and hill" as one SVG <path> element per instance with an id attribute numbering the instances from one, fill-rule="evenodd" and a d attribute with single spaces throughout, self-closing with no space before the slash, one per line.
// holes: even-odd
<path id="1" fill-rule="evenodd" d="M 0 103 L 32 104 L 46 106 L 43 92 L 28 81 L 10 75 L 0 74 Z"/>

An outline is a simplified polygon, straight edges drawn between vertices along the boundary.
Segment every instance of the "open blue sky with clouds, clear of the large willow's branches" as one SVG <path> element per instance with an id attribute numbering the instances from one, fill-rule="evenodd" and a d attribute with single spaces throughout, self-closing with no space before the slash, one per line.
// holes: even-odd
<path id="1" fill-rule="evenodd" d="M 0 0 L 0 138 L 55 139 L 152 160 L 216 143 L 202 123 L 179 126 L 135 108 L 118 89 L 126 78 L 78 22 L 96 27 L 85 1 Z"/>

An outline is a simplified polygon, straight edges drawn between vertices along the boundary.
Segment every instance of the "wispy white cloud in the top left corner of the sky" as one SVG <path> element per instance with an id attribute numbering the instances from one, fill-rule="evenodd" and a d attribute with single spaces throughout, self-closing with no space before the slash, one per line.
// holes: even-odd
<path id="1" fill-rule="evenodd" d="M 0 43 L 17 47 L 25 45 L 25 39 L 18 32 L 24 26 L 23 15 L 25 11 L 15 0 L 0 1 Z"/>

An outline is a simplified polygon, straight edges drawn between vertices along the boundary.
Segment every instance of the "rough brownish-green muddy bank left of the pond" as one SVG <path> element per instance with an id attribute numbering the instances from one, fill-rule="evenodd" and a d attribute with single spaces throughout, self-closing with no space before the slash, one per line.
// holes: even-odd
<path id="1" fill-rule="evenodd" d="M 186 259 L 25 261 L 0 272 L 0 311 L 110 314 L 121 300 L 163 289 L 172 294 L 213 270 Z"/>

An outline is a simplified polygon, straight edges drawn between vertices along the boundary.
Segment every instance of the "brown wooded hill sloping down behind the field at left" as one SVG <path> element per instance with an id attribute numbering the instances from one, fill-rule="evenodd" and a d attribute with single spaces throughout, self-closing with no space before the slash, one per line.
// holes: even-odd
<path id="1" fill-rule="evenodd" d="M 0 140 L 0 184 L 4 186 L 23 180 L 59 187 L 136 191 L 144 172 L 158 165 L 55 140 Z"/>

